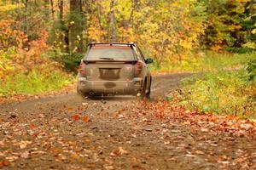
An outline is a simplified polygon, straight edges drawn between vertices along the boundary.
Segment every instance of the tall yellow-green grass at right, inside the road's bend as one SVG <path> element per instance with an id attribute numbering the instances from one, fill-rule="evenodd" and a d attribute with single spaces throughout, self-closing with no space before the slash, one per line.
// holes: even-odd
<path id="1" fill-rule="evenodd" d="M 183 104 L 201 113 L 256 118 L 255 82 L 245 71 L 218 71 L 184 82 Z M 190 83 L 193 81 L 194 83 Z"/>

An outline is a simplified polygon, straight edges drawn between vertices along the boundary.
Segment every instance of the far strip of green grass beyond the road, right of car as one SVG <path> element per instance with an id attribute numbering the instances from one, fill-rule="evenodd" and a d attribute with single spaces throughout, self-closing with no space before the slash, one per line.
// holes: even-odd
<path id="1" fill-rule="evenodd" d="M 230 54 L 205 53 L 194 54 L 181 62 L 166 61 L 160 66 L 150 65 L 152 72 L 204 72 L 218 71 L 221 69 L 238 69 L 246 65 L 248 61 L 255 59 L 255 53 L 251 54 Z"/>

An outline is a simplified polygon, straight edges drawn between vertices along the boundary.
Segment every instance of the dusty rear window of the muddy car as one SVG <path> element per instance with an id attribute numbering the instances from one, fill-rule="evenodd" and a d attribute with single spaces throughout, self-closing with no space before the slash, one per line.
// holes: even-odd
<path id="1" fill-rule="evenodd" d="M 86 60 L 134 60 L 130 47 L 92 47 Z"/>

